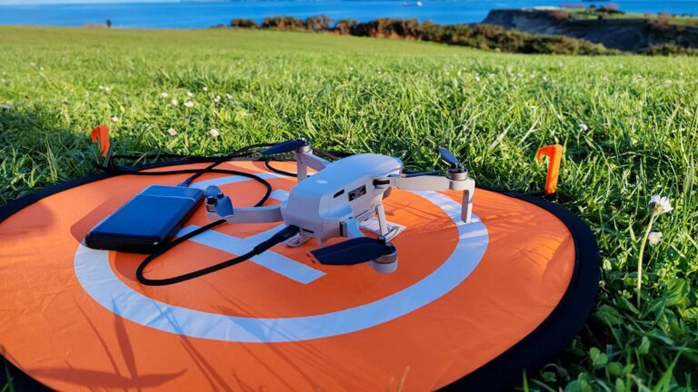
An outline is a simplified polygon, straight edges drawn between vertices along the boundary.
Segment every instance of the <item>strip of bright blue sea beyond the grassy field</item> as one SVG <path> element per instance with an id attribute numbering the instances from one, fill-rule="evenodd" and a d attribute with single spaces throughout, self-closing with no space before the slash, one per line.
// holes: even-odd
<path id="1" fill-rule="evenodd" d="M 608 5 L 607 2 L 570 1 L 566 4 Z M 418 5 L 419 4 L 419 5 Z M 627 12 L 698 15 L 698 1 L 619 0 L 613 4 Z M 368 21 L 379 17 L 416 18 L 437 24 L 481 22 L 490 9 L 561 5 L 560 1 L 521 0 L 235 0 L 222 2 L 121 3 L 70 5 L 0 5 L 0 25 L 103 24 L 115 27 L 205 28 L 228 24 L 232 18 L 261 22 L 265 16 L 304 18 L 324 14 L 334 21 L 352 18 Z"/>

